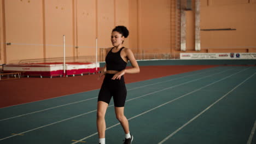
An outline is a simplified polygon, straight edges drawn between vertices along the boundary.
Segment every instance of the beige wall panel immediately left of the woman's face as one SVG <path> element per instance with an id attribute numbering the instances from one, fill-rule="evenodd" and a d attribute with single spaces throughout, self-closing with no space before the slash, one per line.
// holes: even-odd
<path id="1" fill-rule="evenodd" d="M 98 0 L 98 47 L 112 47 L 110 38 L 114 28 L 114 0 Z"/>

